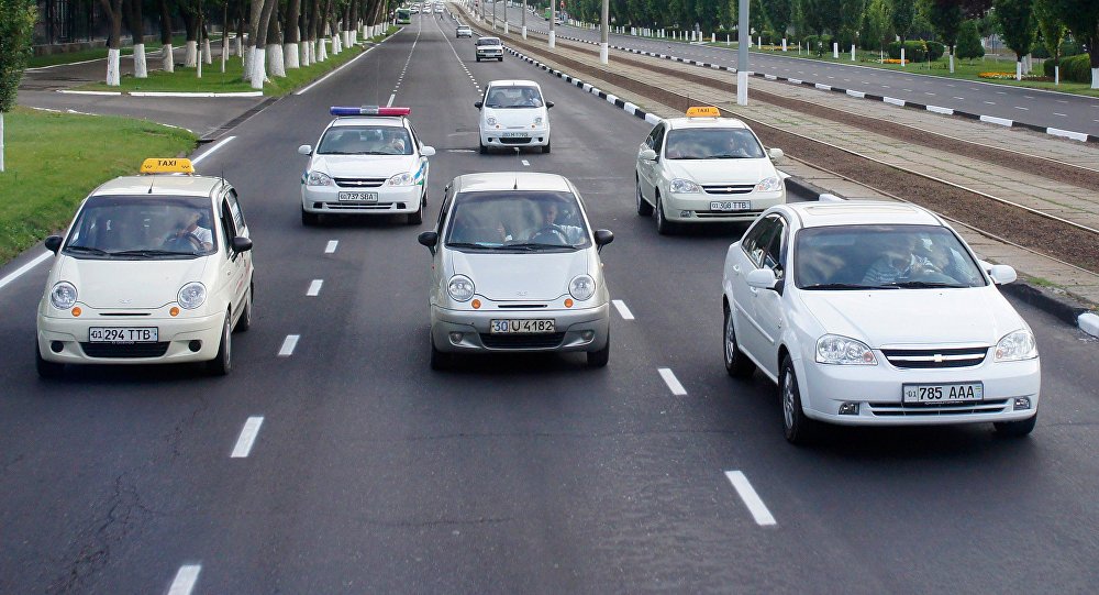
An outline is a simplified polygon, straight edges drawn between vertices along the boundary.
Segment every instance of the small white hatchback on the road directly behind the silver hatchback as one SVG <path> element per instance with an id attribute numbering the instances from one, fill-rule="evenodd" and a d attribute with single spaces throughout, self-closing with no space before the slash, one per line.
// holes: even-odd
<path id="1" fill-rule="evenodd" d="M 540 146 L 550 153 L 550 108 L 533 80 L 492 80 L 474 103 L 480 110 L 480 152 L 489 147 Z"/>

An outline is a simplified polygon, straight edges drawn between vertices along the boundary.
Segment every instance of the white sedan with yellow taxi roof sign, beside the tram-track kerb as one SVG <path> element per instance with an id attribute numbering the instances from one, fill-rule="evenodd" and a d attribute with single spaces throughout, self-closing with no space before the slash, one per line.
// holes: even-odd
<path id="1" fill-rule="evenodd" d="M 744 122 L 720 118 L 718 108 L 693 107 L 686 118 L 664 120 L 637 150 L 637 214 L 656 211 L 656 230 L 679 223 L 752 221 L 786 202 L 786 184 Z"/>

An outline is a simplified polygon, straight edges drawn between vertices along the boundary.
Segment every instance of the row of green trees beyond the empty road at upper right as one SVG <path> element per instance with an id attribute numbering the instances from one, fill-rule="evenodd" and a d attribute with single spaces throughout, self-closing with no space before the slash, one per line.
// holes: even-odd
<path id="1" fill-rule="evenodd" d="M 557 0 L 559 1 L 559 0 Z M 1041 40 L 1051 57 L 1072 36 L 1090 51 L 1091 87 L 1099 88 L 1099 0 L 748 0 L 756 34 L 801 38 L 829 35 L 842 47 L 872 47 L 899 36 L 936 38 L 951 56 L 963 29 L 999 33 L 1017 59 Z M 565 0 L 574 18 L 598 22 L 602 0 Z M 732 30 L 740 0 L 610 0 L 617 25 Z"/>

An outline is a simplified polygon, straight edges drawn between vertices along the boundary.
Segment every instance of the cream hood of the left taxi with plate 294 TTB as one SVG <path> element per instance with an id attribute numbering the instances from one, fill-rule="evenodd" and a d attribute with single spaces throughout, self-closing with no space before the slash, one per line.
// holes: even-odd
<path id="1" fill-rule="evenodd" d="M 76 286 L 77 299 L 91 308 L 160 308 L 176 301 L 185 284 L 204 282 L 210 258 L 98 261 L 62 255 L 55 279 Z M 207 291 L 214 289 L 206 285 Z"/>

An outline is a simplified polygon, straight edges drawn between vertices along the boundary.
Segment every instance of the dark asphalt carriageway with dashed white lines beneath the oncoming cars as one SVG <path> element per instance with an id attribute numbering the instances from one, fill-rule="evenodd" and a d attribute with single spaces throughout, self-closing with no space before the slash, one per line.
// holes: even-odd
<path id="1" fill-rule="evenodd" d="M 1015 305 L 1045 367 L 1029 439 L 843 429 L 790 447 L 775 387 L 721 363 L 721 263 L 743 228 L 657 235 L 633 203 L 647 124 L 519 60 L 475 63 L 452 35 L 415 19 L 201 161 L 237 186 L 256 245 L 256 319 L 232 375 L 40 381 L 45 266 L 0 288 L 0 593 L 158 593 L 188 577 L 193 593 L 1099 591 L 1094 341 Z M 476 153 L 476 89 L 497 78 L 535 79 L 555 101 L 552 154 Z M 390 95 L 439 150 L 425 223 L 302 228 L 296 147 L 329 106 Z M 579 354 L 429 368 L 415 235 L 453 176 L 512 169 L 565 174 L 615 233 L 603 261 L 632 319 L 612 315 L 606 368 Z M 734 489 L 737 471 L 774 525 Z"/>

